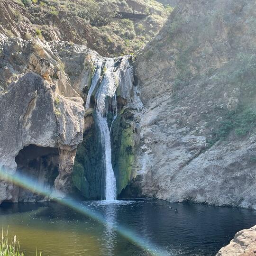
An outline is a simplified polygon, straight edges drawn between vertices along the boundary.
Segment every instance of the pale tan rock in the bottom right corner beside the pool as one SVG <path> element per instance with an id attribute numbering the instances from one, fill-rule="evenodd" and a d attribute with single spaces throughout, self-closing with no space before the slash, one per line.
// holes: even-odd
<path id="1" fill-rule="evenodd" d="M 256 226 L 239 231 L 230 244 L 221 248 L 217 256 L 252 256 L 256 254 Z"/>

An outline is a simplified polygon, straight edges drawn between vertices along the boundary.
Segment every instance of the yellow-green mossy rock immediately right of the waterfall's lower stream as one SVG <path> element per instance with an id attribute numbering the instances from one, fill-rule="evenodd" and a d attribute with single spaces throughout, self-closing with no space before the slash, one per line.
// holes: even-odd
<path id="1" fill-rule="evenodd" d="M 122 110 L 111 128 L 112 166 L 117 181 L 117 194 L 135 177 L 135 142 L 133 110 Z"/>

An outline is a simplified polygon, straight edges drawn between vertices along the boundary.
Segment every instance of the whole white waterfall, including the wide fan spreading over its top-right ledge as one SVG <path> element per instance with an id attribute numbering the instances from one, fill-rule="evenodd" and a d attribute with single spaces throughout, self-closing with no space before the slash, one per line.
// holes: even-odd
<path id="1" fill-rule="evenodd" d="M 126 72 L 128 71 L 128 72 Z M 101 144 L 103 146 L 103 158 L 105 165 L 105 198 L 106 200 L 116 199 L 116 178 L 111 163 L 111 142 L 110 130 L 117 117 L 117 95 L 116 91 L 119 85 L 128 87 L 122 91 L 130 90 L 132 85 L 132 68 L 128 62 L 128 57 L 118 59 L 106 58 L 104 61 L 96 62 L 91 87 L 89 89 L 86 109 L 90 108 L 91 96 L 94 94 L 97 121 L 101 134 Z M 96 91 L 96 92 L 95 92 Z M 114 114 L 111 127 L 108 127 L 107 114 Z"/>

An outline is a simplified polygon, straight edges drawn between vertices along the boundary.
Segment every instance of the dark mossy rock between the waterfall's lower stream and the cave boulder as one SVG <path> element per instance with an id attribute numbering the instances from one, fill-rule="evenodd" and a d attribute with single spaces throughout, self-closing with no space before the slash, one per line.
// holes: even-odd
<path id="1" fill-rule="evenodd" d="M 96 120 L 94 110 L 85 118 L 85 123 L 91 126 L 85 126 L 87 129 L 83 133 L 82 145 L 77 150 L 72 174 L 74 187 L 85 199 L 91 200 L 104 197 L 105 183 L 102 145 Z"/>

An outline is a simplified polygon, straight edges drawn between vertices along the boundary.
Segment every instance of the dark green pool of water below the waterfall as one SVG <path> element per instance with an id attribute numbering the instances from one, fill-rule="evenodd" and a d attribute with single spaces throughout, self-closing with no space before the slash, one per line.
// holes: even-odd
<path id="1" fill-rule="evenodd" d="M 175 256 L 215 255 L 237 231 L 256 224 L 256 211 L 160 200 L 87 201 L 83 206 L 101 212 L 113 228 L 123 225 Z M 17 235 L 26 256 L 34 256 L 36 248 L 50 256 L 152 255 L 113 228 L 54 202 L 2 204 L 0 225 L 9 225 L 9 237 Z"/>

